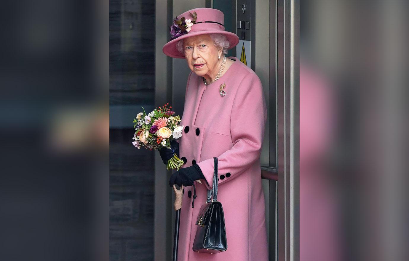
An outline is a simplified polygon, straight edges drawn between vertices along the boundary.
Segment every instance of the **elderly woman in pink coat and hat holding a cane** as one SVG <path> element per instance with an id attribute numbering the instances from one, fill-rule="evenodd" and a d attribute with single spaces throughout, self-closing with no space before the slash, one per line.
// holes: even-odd
<path id="1" fill-rule="evenodd" d="M 225 31 L 221 11 L 193 9 L 173 23 L 171 41 L 163 52 L 185 58 L 192 71 L 180 123 L 184 134 L 179 143 L 172 142 L 184 165 L 169 180 L 170 186 L 187 186 L 178 260 L 268 260 L 260 167 L 267 110 L 260 79 L 236 57 L 225 57 L 238 44 L 238 37 Z M 166 162 L 173 154 L 167 149 L 160 155 Z M 194 252 L 192 246 L 198 211 L 212 188 L 213 157 L 218 157 L 218 200 L 223 205 L 228 247 L 210 255 Z M 201 184 L 195 181 L 200 179 Z M 193 184 L 198 207 L 193 207 L 195 197 L 188 189 Z"/>

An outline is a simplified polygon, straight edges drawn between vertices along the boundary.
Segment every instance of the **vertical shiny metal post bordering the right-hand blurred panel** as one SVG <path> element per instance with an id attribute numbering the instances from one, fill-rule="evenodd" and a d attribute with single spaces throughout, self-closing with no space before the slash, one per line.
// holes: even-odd
<path id="1" fill-rule="evenodd" d="M 299 259 L 298 8 L 277 1 L 278 260 Z"/>

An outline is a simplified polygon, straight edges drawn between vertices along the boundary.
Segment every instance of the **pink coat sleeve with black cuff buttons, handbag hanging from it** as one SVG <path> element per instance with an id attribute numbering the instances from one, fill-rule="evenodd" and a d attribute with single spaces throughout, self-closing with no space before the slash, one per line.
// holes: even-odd
<path id="1" fill-rule="evenodd" d="M 263 86 L 256 74 L 249 74 L 241 81 L 231 110 L 233 147 L 218 156 L 218 175 L 230 173 L 230 177 L 219 179 L 218 184 L 233 180 L 260 159 L 266 119 Z M 213 157 L 198 163 L 207 189 L 213 187 L 213 165 Z"/>

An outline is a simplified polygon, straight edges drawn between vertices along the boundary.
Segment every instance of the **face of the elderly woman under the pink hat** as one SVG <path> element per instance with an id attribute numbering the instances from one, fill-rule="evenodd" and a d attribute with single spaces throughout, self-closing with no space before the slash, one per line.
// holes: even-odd
<path id="1" fill-rule="evenodd" d="M 219 70 L 222 48 L 214 45 L 209 34 L 183 39 L 184 56 L 190 70 L 199 76 L 215 76 Z"/>

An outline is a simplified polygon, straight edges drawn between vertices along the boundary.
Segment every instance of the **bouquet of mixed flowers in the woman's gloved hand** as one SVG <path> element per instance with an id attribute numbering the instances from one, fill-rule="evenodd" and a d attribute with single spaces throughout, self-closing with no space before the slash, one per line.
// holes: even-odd
<path id="1" fill-rule="evenodd" d="M 132 144 L 136 148 L 145 147 L 149 150 L 161 148 L 171 149 L 171 140 L 179 139 L 182 137 L 182 130 L 184 126 L 180 126 L 180 116 L 173 116 L 174 111 L 171 110 L 172 106 L 167 107 L 169 103 L 166 103 L 162 107 L 155 108 L 152 112 L 146 114 L 139 112 L 133 122 L 135 125 L 135 134 L 133 136 L 134 141 Z M 183 165 L 183 160 L 180 160 L 178 155 L 173 151 L 173 157 L 168 160 L 166 169 L 177 169 Z"/>

